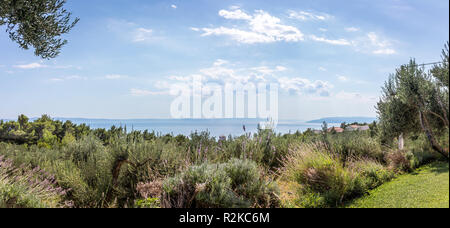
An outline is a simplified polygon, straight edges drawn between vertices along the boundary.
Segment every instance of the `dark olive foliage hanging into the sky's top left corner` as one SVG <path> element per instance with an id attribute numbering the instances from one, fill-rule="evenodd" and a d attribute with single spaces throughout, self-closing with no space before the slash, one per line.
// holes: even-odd
<path id="1" fill-rule="evenodd" d="M 66 0 L 1 0 L 0 26 L 21 48 L 35 49 L 34 54 L 43 59 L 58 56 L 68 33 L 79 21 L 63 8 Z"/>

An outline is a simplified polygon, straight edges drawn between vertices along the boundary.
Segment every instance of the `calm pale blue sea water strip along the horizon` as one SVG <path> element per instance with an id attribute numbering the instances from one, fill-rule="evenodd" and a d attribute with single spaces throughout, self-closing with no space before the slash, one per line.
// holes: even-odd
<path id="1" fill-rule="evenodd" d="M 197 131 L 209 131 L 212 136 L 240 136 L 249 132 L 257 132 L 257 126 L 260 120 L 256 119 L 140 119 L 140 120 L 104 120 L 104 119 L 63 119 L 56 118 L 58 120 L 66 121 L 70 120 L 75 124 L 87 124 L 91 128 L 105 128 L 110 129 L 112 126 L 127 127 L 128 131 L 149 130 L 160 134 L 173 134 L 173 135 L 190 135 Z M 339 126 L 340 124 L 328 124 L 331 126 Z M 245 126 L 245 132 L 244 127 Z M 296 131 L 303 132 L 308 128 L 321 129 L 321 124 L 305 123 L 302 121 L 290 120 L 279 121 L 275 131 L 277 133 L 295 133 Z"/>

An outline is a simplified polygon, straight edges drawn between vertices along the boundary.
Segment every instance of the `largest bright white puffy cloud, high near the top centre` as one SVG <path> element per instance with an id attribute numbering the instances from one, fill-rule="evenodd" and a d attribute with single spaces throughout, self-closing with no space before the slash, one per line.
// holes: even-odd
<path id="1" fill-rule="evenodd" d="M 256 10 L 249 15 L 240 9 L 233 11 L 220 10 L 219 15 L 229 20 L 245 21 L 244 28 L 202 28 L 202 36 L 229 36 L 231 39 L 246 44 L 298 42 L 304 40 L 303 33 L 296 27 L 285 25 L 277 17 L 263 10 Z"/>

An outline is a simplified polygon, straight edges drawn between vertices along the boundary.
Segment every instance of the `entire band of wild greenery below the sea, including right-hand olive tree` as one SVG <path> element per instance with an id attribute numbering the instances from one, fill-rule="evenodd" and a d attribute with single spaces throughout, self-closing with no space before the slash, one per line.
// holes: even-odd
<path id="1" fill-rule="evenodd" d="M 216 138 L 21 115 L 0 121 L 0 207 L 341 207 L 448 162 L 448 102 L 447 45 L 431 71 L 411 61 L 391 76 L 369 131 Z"/>

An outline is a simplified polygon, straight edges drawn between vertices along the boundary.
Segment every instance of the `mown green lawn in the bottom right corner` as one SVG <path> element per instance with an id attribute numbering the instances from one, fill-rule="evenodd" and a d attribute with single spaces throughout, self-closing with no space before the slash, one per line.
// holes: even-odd
<path id="1" fill-rule="evenodd" d="M 448 163 L 424 166 L 386 183 L 351 208 L 449 208 Z"/>

